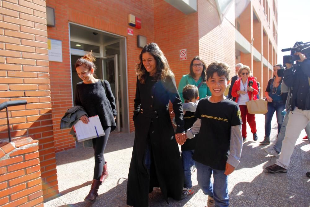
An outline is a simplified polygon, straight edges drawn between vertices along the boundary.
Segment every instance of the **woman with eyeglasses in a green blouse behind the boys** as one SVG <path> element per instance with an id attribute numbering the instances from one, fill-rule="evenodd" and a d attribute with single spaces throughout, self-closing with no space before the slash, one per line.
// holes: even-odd
<path id="1" fill-rule="evenodd" d="M 189 74 L 183 75 L 178 87 L 178 91 L 183 103 L 184 98 L 182 91 L 186 85 L 197 86 L 200 99 L 206 96 L 211 96 L 211 91 L 206 84 L 206 70 L 207 67 L 202 58 L 199 56 L 194 57 L 191 61 L 191 64 L 189 65 Z"/>

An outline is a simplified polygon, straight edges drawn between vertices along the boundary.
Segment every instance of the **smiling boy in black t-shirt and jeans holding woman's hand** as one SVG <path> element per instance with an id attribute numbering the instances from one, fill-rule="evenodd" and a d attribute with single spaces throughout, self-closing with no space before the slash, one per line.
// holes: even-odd
<path id="1" fill-rule="evenodd" d="M 197 121 L 183 137 L 176 137 L 179 144 L 199 133 L 193 159 L 197 168 L 197 181 L 208 195 L 208 206 L 228 206 L 228 175 L 239 164 L 242 150 L 241 114 L 236 102 L 226 98 L 229 69 L 224 63 L 213 62 L 207 68 L 207 85 L 210 97 L 199 101 Z M 213 173 L 214 184 L 211 182 Z"/>

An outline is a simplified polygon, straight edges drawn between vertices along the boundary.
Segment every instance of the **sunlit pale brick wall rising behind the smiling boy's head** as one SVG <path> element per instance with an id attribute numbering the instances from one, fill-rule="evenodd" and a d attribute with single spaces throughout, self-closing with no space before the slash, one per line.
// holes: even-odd
<path id="1" fill-rule="evenodd" d="M 233 11 L 233 6 L 230 8 Z M 215 1 L 198 0 L 199 55 L 206 64 L 225 62 L 235 75 L 235 17 L 228 12 L 220 22 Z M 242 62 L 242 61 L 241 61 Z"/>

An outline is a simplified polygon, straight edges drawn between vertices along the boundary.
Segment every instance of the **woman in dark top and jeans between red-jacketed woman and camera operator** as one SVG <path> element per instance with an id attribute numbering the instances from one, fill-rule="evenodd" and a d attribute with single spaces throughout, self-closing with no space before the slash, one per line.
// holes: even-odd
<path id="1" fill-rule="evenodd" d="M 268 81 L 266 88 L 265 95 L 268 101 L 268 112 L 265 114 L 265 137 L 263 142 L 259 142 L 260 144 L 270 144 L 271 120 L 275 111 L 277 115 L 278 133 L 283 123 L 284 116 L 281 115 L 281 112 L 285 109 L 287 93 L 281 92 L 283 78 L 279 77 L 277 73 L 280 69 L 283 69 L 281 64 L 273 66 L 273 77 Z"/>

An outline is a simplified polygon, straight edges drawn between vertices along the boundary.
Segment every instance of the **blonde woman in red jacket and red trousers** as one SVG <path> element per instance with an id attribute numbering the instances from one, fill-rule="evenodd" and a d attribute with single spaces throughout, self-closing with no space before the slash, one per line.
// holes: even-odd
<path id="1" fill-rule="evenodd" d="M 253 100 L 256 100 L 256 95 L 258 94 L 258 87 L 254 77 L 250 76 L 251 70 L 250 67 L 244 65 L 238 71 L 238 74 L 241 74 L 241 78 L 236 80 L 232 87 L 232 97 L 236 97 L 236 102 L 239 104 L 241 119 L 242 119 L 242 138 L 243 142 L 246 141 L 246 121 L 249 123 L 251 132 L 253 133 L 253 140 L 257 140 L 256 134 L 256 122 L 255 115 L 249 114 L 249 111 L 246 107 L 246 102 L 250 101 L 253 97 Z M 252 83 L 252 86 L 249 85 L 249 82 Z"/>

